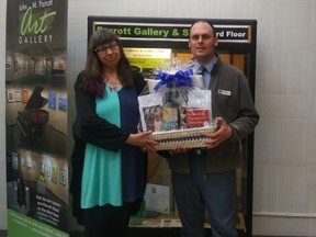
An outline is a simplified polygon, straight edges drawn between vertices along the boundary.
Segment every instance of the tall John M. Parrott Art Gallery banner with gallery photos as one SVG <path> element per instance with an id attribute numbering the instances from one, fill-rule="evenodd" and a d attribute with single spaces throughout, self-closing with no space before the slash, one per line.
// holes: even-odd
<path id="1" fill-rule="evenodd" d="M 8 234 L 68 236 L 67 0 L 8 0 Z"/>

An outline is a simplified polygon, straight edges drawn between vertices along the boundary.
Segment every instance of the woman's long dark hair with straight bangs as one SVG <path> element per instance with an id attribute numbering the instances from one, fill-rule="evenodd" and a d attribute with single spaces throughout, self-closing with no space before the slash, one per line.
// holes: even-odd
<path id="1" fill-rule="evenodd" d="M 84 90 L 97 98 L 102 98 L 105 93 L 104 82 L 102 78 L 103 66 L 100 61 L 95 48 L 116 42 L 120 48 L 120 60 L 117 63 L 117 77 L 123 86 L 132 84 L 132 68 L 126 58 L 120 38 L 116 34 L 108 29 L 94 31 L 89 40 L 86 64 L 86 78 L 83 81 Z"/>

